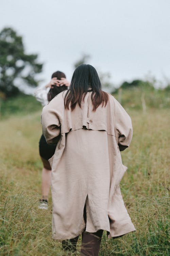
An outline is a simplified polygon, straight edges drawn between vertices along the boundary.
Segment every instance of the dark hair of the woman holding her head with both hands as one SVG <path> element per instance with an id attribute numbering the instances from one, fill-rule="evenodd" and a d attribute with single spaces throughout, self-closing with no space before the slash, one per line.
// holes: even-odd
<path id="1" fill-rule="evenodd" d="M 53 77 L 57 77 L 58 80 L 61 80 L 62 77 L 66 78 L 66 75 L 61 71 L 56 71 L 52 74 L 51 78 L 53 78 Z M 48 101 L 52 100 L 57 94 L 61 93 L 64 90 L 67 90 L 67 89 L 68 88 L 65 85 L 60 86 L 60 87 L 53 85 L 53 87 L 49 90 L 48 95 L 47 95 Z"/>

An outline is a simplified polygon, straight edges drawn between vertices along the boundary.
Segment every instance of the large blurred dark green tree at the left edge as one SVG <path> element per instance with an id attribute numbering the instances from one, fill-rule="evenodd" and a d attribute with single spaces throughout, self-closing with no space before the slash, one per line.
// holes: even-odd
<path id="1" fill-rule="evenodd" d="M 0 94 L 5 97 L 17 95 L 17 83 L 37 86 L 36 74 L 43 64 L 37 62 L 37 54 L 26 54 L 22 37 L 12 28 L 0 32 Z"/>

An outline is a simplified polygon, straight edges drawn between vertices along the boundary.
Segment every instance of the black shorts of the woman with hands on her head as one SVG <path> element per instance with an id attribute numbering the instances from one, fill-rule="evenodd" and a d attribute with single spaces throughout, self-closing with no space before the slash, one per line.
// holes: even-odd
<path id="1" fill-rule="evenodd" d="M 54 155 L 55 148 L 56 148 L 56 145 L 47 144 L 46 139 L 42 134 L 39 140 L 39 155 L 44 159 L 48 160 Z"/>

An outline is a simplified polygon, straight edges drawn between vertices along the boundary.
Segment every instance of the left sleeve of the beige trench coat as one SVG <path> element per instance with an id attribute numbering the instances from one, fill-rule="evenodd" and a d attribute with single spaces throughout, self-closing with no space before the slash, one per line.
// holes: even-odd
<path id="1" fill-rule="evenodd" d="M 44 137 L 48 144 L 57 144 L 61 132 L 61 123 L 55 109 L 50 104 L 43 108 L 41 124 Z"/>

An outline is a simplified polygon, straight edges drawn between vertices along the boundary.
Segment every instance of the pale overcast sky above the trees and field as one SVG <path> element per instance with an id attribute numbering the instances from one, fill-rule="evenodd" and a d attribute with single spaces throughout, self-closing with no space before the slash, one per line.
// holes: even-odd
<path id="1" fill-rule="evenodd" d="M 170 79 L 170 0 L 1 0 L 0 29 L 12 27 L 38 53 L 46 83 L 56 70 L 71 80 L 82 53 L 120 84 Z"/>

